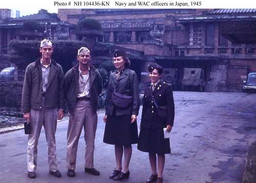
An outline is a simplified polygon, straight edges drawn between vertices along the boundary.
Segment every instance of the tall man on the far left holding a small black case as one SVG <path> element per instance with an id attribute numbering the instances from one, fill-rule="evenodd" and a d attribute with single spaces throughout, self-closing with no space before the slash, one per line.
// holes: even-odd
<path id="1" fill-rule="evenodd" d="M 55 132 L 57 119 L 63 118 L 64 94 L 62 90 L 62 67 L 51 59 L 52 43 L 41 41 L 41 58 L 26 68 L 22 90 L 24 119 L 31 125 L 28 136 L 28 177 L 35 178 L 37 167 L 37 144 L 42 126 L 48 144 L 49 173 L 61 177 L 57 170 Z"/>

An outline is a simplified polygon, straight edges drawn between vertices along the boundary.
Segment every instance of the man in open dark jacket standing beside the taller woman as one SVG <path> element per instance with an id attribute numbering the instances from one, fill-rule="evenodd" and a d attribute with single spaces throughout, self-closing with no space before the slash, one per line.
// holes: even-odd
<path id="1" fill-rule="evenodd" d="M 64 90 L 68 101 L 70 120 L 67 134 L 67 169 L 68 176 L 75 176 L 78 140 L 84 129 L 86 154 L 84 171 L 99 175 L 94 168 L 94 139 L 97 128 L 98 96 L 102 90 L 102 79 L 99 72 L 90 64 L 90 51 L 82 47 L 78 50 L 79 63 L 64 76 Z"/>

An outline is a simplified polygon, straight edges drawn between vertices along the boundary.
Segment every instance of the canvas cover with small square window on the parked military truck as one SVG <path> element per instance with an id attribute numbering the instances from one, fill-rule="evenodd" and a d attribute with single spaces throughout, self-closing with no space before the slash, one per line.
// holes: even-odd
<path id="1" fill-rule="evenodd" d="M 182 83 L 184 85 L 201 85 L 202 68 L 184 68 Z"/>

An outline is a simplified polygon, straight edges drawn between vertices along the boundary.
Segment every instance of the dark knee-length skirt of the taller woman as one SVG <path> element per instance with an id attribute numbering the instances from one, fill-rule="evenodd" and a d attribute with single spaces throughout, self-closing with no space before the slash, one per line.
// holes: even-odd
<path id="1" fill-rule="evenodd" d="M 131 123 L 132 115 L 108 116 L 103 142 L 106 144 L 128 146 L 138 143 L 137 122 Z"/>

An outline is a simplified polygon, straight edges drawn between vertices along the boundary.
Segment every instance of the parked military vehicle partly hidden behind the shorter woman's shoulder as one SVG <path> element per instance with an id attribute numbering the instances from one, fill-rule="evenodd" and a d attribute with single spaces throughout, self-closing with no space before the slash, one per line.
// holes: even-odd
<path id="1" fill-rule="evenodd" d="M 179 86 L 177 68 L 164 68 L 163 81 L 168 84 L 172 84 L 173 90 L 177 90 Z"/>

